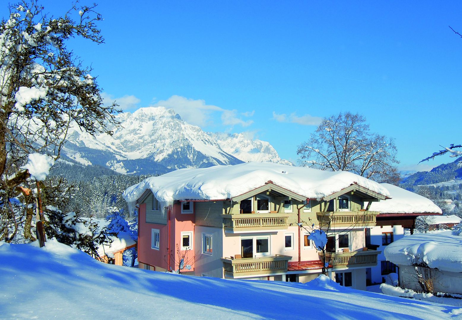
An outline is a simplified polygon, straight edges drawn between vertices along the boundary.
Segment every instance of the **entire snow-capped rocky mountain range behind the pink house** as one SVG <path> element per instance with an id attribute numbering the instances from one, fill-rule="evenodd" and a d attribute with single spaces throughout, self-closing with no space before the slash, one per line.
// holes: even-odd
<path id="1" fill-rule="evenodd" d="M 173 109 L 140 108 L 117 115 L 117 120 L 121 125 L 112 128 L 112 136 L 91 136 L 77 127 L 71 128 L 62 158 L 137 174 L 244 161 L 284 163 L 268 142 L 248 139 L 243 134 L 207 134 L 186 123 Z"/>

